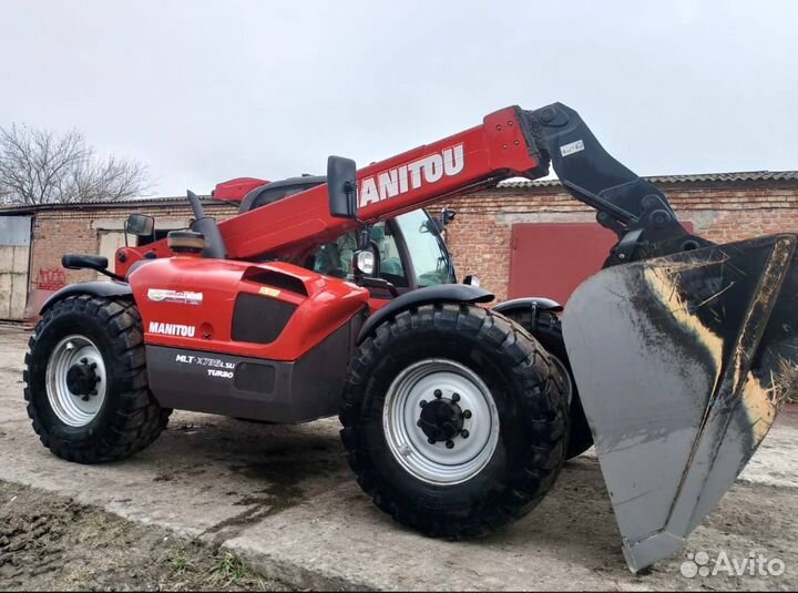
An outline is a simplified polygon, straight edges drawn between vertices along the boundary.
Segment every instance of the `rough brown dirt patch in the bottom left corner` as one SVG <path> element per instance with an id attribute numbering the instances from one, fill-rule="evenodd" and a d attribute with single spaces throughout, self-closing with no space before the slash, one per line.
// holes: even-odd
<path id="1" fill-rule="evenodd" d="M 229 552 L 0 482 L 2 591 L 286 591 Z"/>

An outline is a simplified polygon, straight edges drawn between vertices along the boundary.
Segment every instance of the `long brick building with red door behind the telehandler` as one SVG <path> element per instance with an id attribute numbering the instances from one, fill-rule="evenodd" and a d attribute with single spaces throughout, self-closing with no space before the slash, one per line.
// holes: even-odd
<path id="1" fill-rule="evenodd" d="M 798 171 L 648 178 L 679 218 L 708 239 L 726 243 L 798 228 Z M 614 235 L 595 223 L 595 212 L 555 181 L 505 182 L 443 205 L 458 211 L 446 231 L 458 274 L 475 274 L 500 300 L 539 295 L 564 301 L 601 267 L 614 243 Z M 204 206 L 217 219 L 236 212 L 211 200 Z M 63 269 L 61 255 L 111 257 L 124 245 L 122 228 L 131 212 L 155 216 L 163 234 L 191 221 L 185 198 L 0 207 L 0 319 L 19 319 L 21 311 L 33 317 L 55 289 L 94 279 L 93 272 Z"/>

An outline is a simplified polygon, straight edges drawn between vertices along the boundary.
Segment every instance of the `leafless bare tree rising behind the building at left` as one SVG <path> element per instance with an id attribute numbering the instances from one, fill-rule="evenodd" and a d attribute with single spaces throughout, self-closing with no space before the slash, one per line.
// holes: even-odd
<path id="1" fill-rule="evenodd" d="M 0 127 L 0 203 L 124 200 L 151 187 L 144 165 L 99 156 L 78 131 L 59 135 L 25 125 Z"/>

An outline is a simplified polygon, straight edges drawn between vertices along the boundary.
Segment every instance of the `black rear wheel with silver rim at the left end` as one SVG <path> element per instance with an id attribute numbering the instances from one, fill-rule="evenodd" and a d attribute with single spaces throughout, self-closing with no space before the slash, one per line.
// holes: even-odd
<path id="1" fill-rule="evenodd" d="M 166 427 L 172 410 L 147 389 L 142 323 L 133 303 L 68 297 L 44 313 L 28 346 L 28 416 L 58 457 L 79 463 L 123 459 Z M 73 395 L 75 384 L 69 387 L 63 374 L 79 366 L 93 374 L 84 381 L 94 381 L 96 395 Z"/>

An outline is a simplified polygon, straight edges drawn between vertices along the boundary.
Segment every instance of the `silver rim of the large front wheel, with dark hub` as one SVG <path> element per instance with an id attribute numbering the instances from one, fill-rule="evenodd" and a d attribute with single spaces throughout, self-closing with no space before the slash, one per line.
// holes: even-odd
<path id="1" fill-rule="evenodd" d="M 419 426 L 426 406 L 459 416 L 457 433 L 430 442 Z M 431 358 L 409 366 L 393 379 L 382 410 L 382 432 L 393 457 L 413 477 L 452 485 L 477 476 L 493 457 L 499 411 L 475 372 L 453 360 Z"/>

